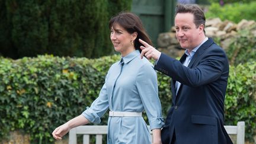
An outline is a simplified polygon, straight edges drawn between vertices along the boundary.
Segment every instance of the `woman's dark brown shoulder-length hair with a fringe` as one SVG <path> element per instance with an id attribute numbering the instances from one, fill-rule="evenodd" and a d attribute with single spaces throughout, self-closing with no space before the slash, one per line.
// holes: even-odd
<path id="1" fill-rule="evenodd" d="M 139 42 L 139 39 L 146 41 L 146 43 L 152 46 L 152 41 L 149 39 L 149 36 L 142 25 L 142 21 L 137 15 L 132 12 L 120 12 L 110 19 L 108 27 L 111 30 L 111 27 L 114 28 L 116 24 L 119 24 L 130 34 L 137 32 L 137 37 L 134 41 L 136 50 L 141 52 L 140 46 L 143 46 L 143 44 Z"/>

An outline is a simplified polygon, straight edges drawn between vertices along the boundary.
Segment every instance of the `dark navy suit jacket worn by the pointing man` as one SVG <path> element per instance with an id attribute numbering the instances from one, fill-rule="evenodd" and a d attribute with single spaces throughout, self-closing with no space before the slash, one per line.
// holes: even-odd
<path id="1" fill-rule="evenodd" d="M 155 65 L 157 71 L 172 78 L 172 106 L 161 131 L 162 143 L 171 143 L 174 130 L 178 144 L 232 143 L 223 127 L 229 75 L 225 52 L 209 39 L 188 67 L 182 64 L 186 56 L 179 61 L 162 53 Z M 181 83 L 177 95 L 176 81 Z"/>

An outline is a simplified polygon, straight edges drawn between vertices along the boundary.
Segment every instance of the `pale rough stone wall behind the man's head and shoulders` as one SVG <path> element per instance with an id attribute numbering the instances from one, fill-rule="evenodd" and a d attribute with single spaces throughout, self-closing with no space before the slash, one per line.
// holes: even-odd
<path id="1" fill-rule="evenodd" d="M 232 43 L 232 38 L 238 34 L 240 30 L 251 30 L 251 33 L 256 37 L 255 21 L 242 20 L 238 24 L 232 21 L 221 21 L 219 18 L 206 20 L 205 30 L 207 37 L 213 37 L 220 40 L 220 46 L 227 50 L 229 44 Z M 158 49 L 172 57 L 183 55 L 184 49 L 181 49 L 180 44 L 175 36 L 175 28 L 172 27 L 167 33 L 161 33 L 158 36 Z"/>

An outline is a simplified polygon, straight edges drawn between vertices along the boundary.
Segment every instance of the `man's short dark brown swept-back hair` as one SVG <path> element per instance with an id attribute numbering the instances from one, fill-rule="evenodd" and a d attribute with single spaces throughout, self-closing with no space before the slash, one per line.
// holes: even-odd
<path id="1" fill-rule="evenodd" d="M 206 18 L 204 16 L 203 10 L 196 4 L 187 4 L 187 5 L 177 5 L 175 9 L 177 15 L 178 13 L 190 13 L 194 15 L 194 24 L 198 28 L 201 24 L 205 25 Z M 205 31 L 204 31 L 205 33 Z"/>

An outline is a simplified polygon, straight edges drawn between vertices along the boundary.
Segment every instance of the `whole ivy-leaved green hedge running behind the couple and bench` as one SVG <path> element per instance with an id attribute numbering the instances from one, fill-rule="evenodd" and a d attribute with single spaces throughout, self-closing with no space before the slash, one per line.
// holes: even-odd
<path id="1" fill-rule="evenodd" d="M 101 59 L 38 56 L 0 58 L 0 139 L 12 130 L 29 133 L 32 143 L 51 143 L 55 127 L 78 116 L 103 86 L 119 55 Z M 158 73 L 159 97 L 166 117 L 171 106 L 170 81 Z M 246 137 L 255 135 L 256 62 L 231 66 L 225 101 L 225 124 L 244 120 Z M 107 124 L 107 114 L 102 124 Z"/>

